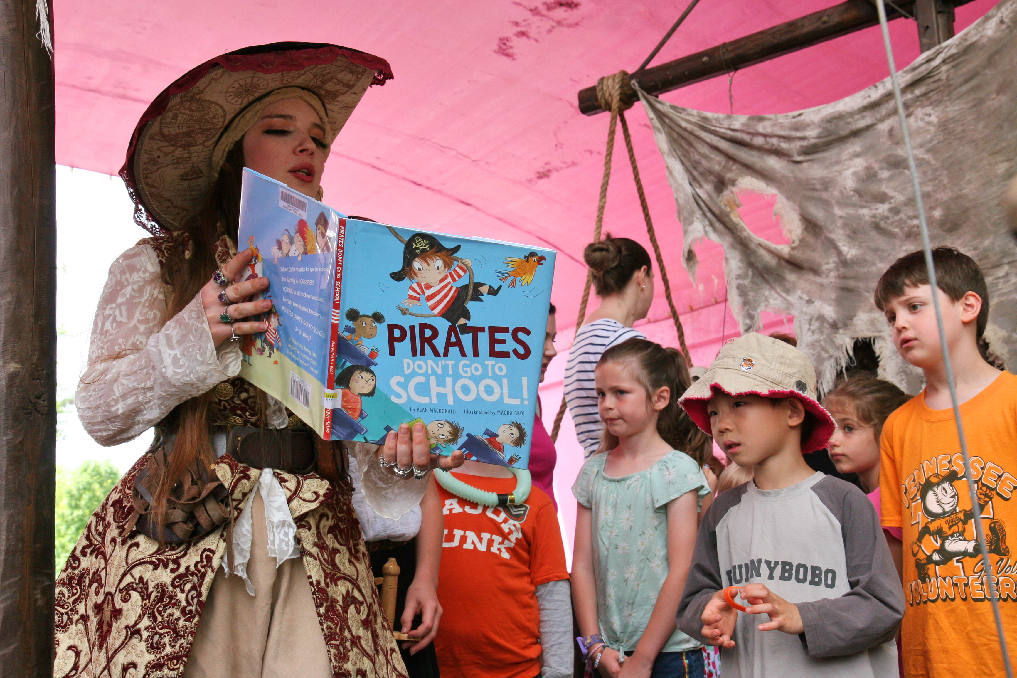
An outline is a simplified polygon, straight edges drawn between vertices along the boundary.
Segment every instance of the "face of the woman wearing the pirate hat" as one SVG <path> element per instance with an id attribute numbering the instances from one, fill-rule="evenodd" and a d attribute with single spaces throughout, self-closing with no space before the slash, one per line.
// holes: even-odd
<path id="1" fill-rule="evenodd" d="M 314 197 L 328 158 L 324 124 L 302 99 L 264 107 L 244 134 L 244 162 L 250 169 Z"/>

